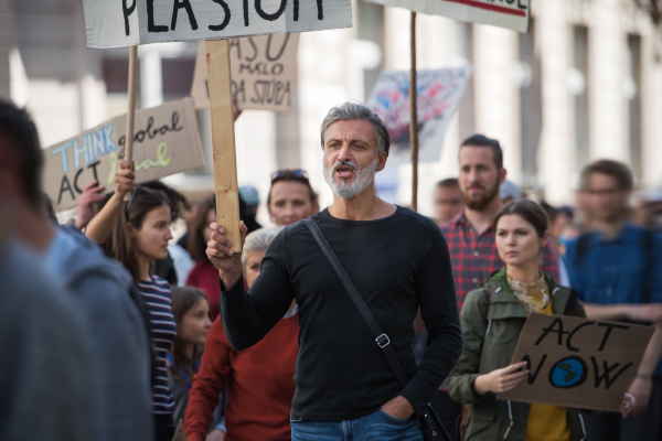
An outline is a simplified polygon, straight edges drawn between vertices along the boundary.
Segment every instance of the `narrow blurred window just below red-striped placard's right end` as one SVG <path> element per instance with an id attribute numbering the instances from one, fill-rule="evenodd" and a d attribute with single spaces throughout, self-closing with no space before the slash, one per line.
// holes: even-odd
<path id="1" fill-rule="evenodd" d="M 543 127 L 542 108 L 542 67 L 535 44 L 534 21 L 527 34 L 520 34 L 520 62 L 517 80 L 520 86 L 521 143 L 522 143 L 522 184 L 525 189 L 536 191 L 537 151 Z"/>

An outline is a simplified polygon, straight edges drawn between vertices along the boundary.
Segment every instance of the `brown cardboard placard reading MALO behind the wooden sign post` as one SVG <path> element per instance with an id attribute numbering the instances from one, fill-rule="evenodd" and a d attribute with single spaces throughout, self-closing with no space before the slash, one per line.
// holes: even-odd
<path id="1" fill-rule="evenodd" d="M 242 110 L 289 111 L 297 77 L 299 34 L 229 40 L 232 93 Z M 191 96 L 196 109 L 210 108 L 206 49 L 200 43 Z"/>

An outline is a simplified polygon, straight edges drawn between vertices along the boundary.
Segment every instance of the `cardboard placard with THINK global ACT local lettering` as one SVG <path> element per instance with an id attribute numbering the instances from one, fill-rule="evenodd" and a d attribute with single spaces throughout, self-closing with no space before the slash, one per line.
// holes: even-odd
<path id="1" fill-rule="evenodd" d="M 115 172 L 125 155 L 127 116 L 113 118 L 43 151 L 44 191 L 58 209 L 76 206 L 92 181 L 115 191 Z M 134 137 L 136 182 L 202 169 L 204 157 L 192 98 L 136 111 Z"/>

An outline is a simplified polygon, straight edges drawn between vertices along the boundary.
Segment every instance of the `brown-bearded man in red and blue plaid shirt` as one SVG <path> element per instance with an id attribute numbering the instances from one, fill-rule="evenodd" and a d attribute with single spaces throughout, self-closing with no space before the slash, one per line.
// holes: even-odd
<path id="1" fill-rule="evenodd" d="M 505 180 L 505 169 L 499 141 L 482 135 L 474 135 L 462 142 L 459 160 L 458 181 L 465 209 L 440 227 L 450 250 L 461 309 L 469 291 L 504 266 L 496 251 L 492 220 L 501 209 L 499 189 Z M 540 259 L 541 269 L 554 280 L 559 280 L 559 260 L 552 240 L 543 248 Z"/>

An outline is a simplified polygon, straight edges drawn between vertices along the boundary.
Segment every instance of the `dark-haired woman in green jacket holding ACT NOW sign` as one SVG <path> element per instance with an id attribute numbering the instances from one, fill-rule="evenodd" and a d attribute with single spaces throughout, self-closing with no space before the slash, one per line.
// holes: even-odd
<path id="1" fill-rule="evenodd" d="M 467 405 L 465 441 L 580 441 L 586 439 L 576 409 L 496 399 L 530 374 L 511 359 L 530 312 L 585 318 L 576 293 L 538 269 L 549 240 L 547 216 L 532 201 L 504 206 L 494 219 L 499 256 L 505 268 L 471 291 L 460 313 L 463 348 L 446 380 L 450 397 Z M 627 416 L 631 396 L 621 405 Z"/>

